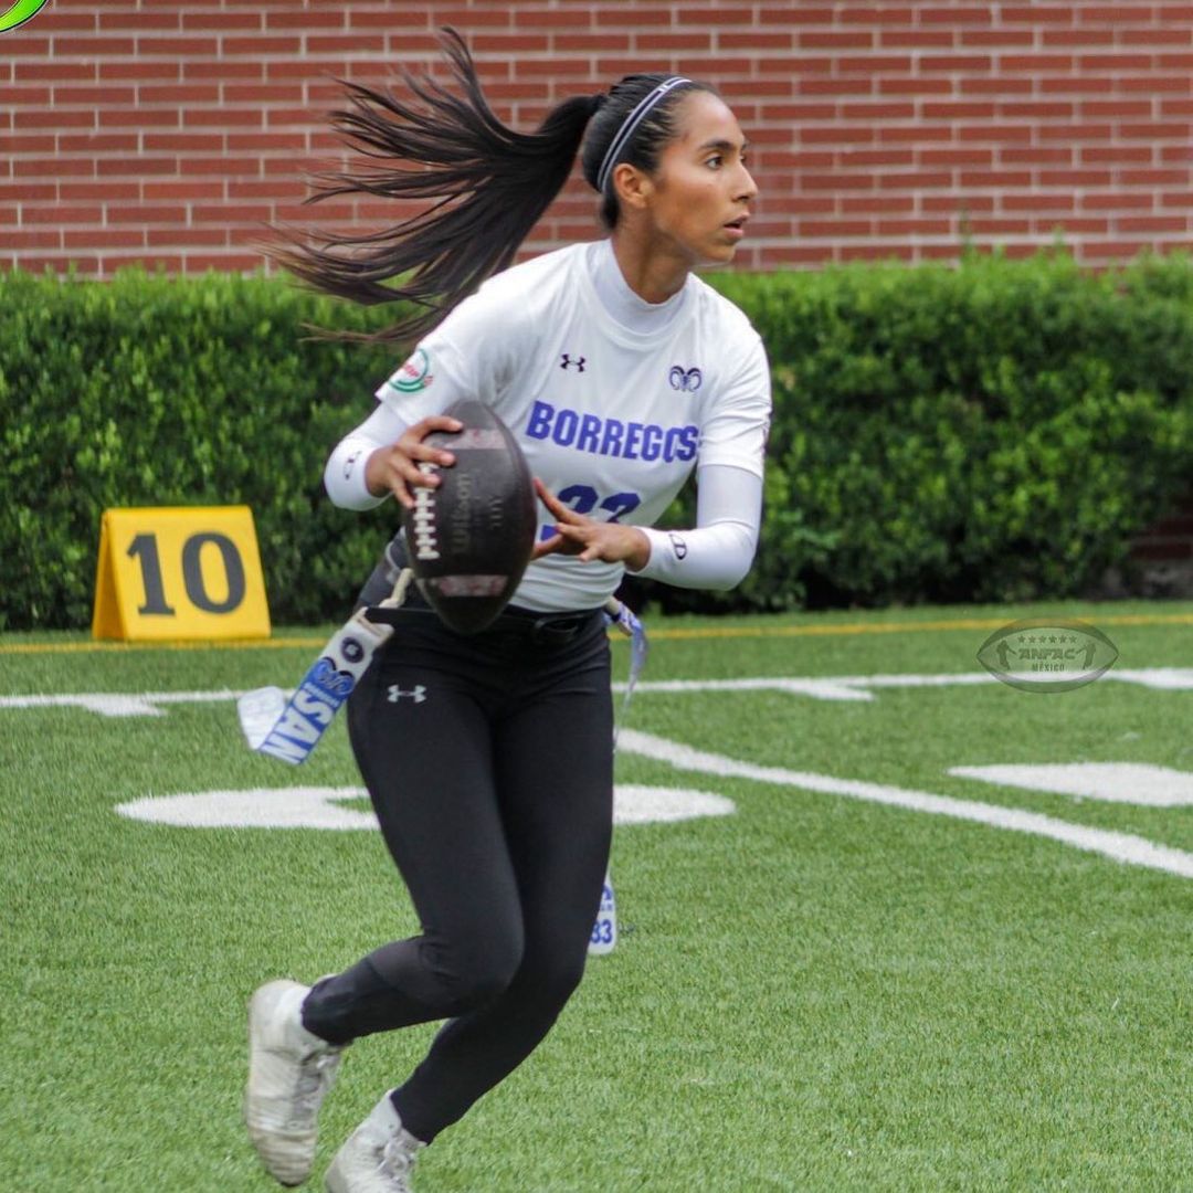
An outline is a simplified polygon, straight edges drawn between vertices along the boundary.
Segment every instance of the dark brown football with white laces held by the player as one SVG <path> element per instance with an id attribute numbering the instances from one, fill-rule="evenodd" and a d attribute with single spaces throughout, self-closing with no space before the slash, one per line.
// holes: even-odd
<path id="1" fill-rule="evenodd" d="M 402 514 L 414 579 L 445 625 L 476 633 L 492 624 L 521 581 L 534 546 L 537 514 L 530 468 L 509 428 L 471 398 L 444 412 L 464 424 L 426 443 L 456 457 L 435 488 L 418 486 Z"/>

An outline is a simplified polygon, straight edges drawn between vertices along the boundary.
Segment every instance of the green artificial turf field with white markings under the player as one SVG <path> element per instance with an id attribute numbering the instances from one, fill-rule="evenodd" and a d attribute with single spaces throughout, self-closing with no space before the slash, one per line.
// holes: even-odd
<path id="1" fill-rule="evenodd" d="M 1047 694 L 966 679 L 1031 616 L 1098 626 L 1118 662 Z M 1193 1188 L 1193 605 L 648 629 L 622 938 L 419 1193 Z M 324 638 L 0 638 L 0 1189 L 277 1187 L 240 1123 L 249 994 L 416 929 L 350 827 L 342 716 L 302 768 L 240 736 L 229 693 L 292 685 Z M 135 699 L 13 700 L 97 693 Z M 950 773 L 991 766 L 1021 769 Z M 641 822 L 675 806 L 716 815 Z M 311 1187 L 432 1032 L 348 1051 Z"/>

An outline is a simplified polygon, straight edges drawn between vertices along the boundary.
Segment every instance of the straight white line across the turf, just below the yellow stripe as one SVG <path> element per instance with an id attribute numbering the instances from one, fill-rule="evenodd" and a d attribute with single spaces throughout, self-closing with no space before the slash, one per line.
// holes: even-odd
<path id="1" fill-rule="evenodd" d="M 1114 669 L 1098 682 L 1138 684 L 1167 692 L 1193 691 L 1193 667 L 1145 667 L 1135 670 Z M 957 672 L 944 675 L 826 675 L 783 676 L 765 675 L 755 679 L 666 679 L 644 680 L 635 688 L 638 693 L 684 692 L 787 692 L 814 700 L 874 699 L 884 688 L 971 687 L 978 684 L 1001 682 L 985 672 Z M 625 684 L 614 684 L 614 692 L 624 692 Z M 2 709 L 75 707 L 104 717 L 160 717 L 163 706 L 172 704 L 210 704 L 240 699 L 243 692 L 228 688 L 209 692 L 79 692 L 55 696 L 0 696 Z M 1040 693 L 1037 693 L 1040 694 Z"/>

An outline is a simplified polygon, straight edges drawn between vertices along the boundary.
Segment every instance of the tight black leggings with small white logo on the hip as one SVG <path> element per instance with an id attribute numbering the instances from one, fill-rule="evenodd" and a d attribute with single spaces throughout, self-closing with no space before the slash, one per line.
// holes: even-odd
<path id="1" fill-rule="evenodd" d="M 508 610 L 472 637 L 402 611 L 348 703 L 381 829 L 422 926 L 316 983 L 333 1043 L 450 1019 L 395 1092 L 429 1142 L 520 1064 L 583 973 L 612 832 L 599 612 Z"/>

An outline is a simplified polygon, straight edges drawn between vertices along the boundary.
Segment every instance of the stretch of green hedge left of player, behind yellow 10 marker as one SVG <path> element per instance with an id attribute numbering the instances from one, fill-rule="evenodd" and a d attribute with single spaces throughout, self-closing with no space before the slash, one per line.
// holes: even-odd
<path id="1" fill-rule="evenodd" d="M 394 508 L 336 509 L 327 452 L 371 407 L 392 353 L 305 323 L 376 311 L 278 280 L 12 273 L 0 296 L 0 625 L 91 623 L 109 507 L 252 507 L 274 620 L 342 617 Z"/>

